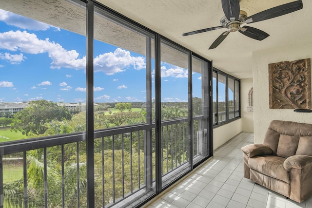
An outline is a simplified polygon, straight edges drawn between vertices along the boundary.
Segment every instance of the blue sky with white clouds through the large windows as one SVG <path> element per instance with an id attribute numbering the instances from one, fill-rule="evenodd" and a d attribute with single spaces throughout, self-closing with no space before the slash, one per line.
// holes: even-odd
<path id="1" fill-rule="evenodd" d="M 0 101 L 85 102 L 85 41 L 0 10 Z M 145 57 L 97 40 L 95 45 L 94 101 L 145 102 Z M 154 66 L 152 71 L 154 85 Z M 163 102 L 187 101 L 187 76 L 186 69 L 161 64 Z M 193 96 L 201 97 L 201 75 L 193 76 Z"/>

